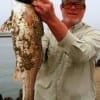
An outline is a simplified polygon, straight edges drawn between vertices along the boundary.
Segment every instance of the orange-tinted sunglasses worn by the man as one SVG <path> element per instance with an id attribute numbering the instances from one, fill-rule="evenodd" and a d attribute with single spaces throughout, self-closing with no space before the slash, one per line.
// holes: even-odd
<path id="1" fill-rule="evenodd" d="M 65 3 L 62 4 L 62 7 L 65 9 L 70 9 L 72 6 L 75 6 L 76 9 L 84 9 L 85 8 L 85 4 L 83 3 Z"/>

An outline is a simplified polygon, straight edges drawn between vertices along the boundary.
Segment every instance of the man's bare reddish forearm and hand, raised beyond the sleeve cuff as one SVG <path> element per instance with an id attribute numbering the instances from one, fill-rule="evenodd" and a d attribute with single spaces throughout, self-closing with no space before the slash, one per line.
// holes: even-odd
<path id="1" fill-rule="evenodd" d="M 49 0 L 37 0 L 32 4 L 41 19 L 49 26 L 56 39 L 61 41 L 67 34 L 68 28 L 57 18 L 53 4 Z"/>

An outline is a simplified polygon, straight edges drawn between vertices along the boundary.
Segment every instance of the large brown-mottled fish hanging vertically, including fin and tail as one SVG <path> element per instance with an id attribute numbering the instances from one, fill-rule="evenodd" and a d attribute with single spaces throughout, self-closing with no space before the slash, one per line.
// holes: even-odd
<path id="1" fill-rule="evenodd" d="M 30 2 L 12 0 L 12 5 L 11 16 L 2 24 L 0 31 L 12 33 L 16 57 L 13 78 L 22 81 L 22 100 L 34 100 L 35 80 L 43 61 L 43 23 Z"/>

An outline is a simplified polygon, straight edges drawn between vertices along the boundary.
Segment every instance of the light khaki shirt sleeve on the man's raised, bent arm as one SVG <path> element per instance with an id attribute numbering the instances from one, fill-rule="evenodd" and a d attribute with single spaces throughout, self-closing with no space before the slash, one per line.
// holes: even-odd
<path id="1" fill-rule="evenodd" d="M 100 51 L 100 31 L 91 30 L 81 39 L 74 36 L 70 31 L 59 45 L 64 52 L 77 63 L 84 63 L 92 59 Z"/>

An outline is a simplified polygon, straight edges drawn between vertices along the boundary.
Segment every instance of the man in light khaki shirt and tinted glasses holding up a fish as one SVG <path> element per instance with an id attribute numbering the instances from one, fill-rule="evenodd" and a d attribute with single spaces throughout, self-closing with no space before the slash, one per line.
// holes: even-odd
<path id="1" fill-rule="evenodd" d="M 36 80 L 35 100 L 95 100 L 100 32 L 81 22 L 85 0 L 62 0 L 62 21 L 49 0 L 37 0 L 33 5 L 52 31 L 42 39 L 44 61 Z"/>

